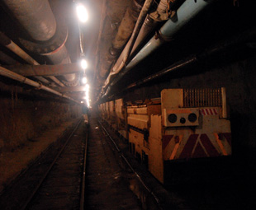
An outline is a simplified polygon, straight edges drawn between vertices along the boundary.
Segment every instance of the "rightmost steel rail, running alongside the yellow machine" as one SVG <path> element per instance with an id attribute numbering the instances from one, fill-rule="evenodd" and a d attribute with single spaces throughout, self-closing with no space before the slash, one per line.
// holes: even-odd
<path id="1" fill-rule="evenodd" d="M 102 123 L 98 120 L 98 123 L 101 125 L 101 127 L 103 128 L 104 132 L 107 134 L 107 137 L 110 138 L 111 142 L 114 144 L 114 146 L 116 147 L 116 150 L 118 152 L 121 152 L 121 149 L 116 145 L 116 142 L 113 138 L 111 138 L 111 135 L 107 132 L 107 129 L 102 125 Z M 145 184 L 145 182 L 141 179 L 140 175 L 135 171 L 135 169 L 130 165 L 130 162 L 126 159 L 126 157 L 121 153 L 121 157 L 124 161 L 126 161 L 127 166 L 130 167 L 130 170 L 132 170 L 132 172 L 136 175 L 136 177 L 138 178 L 138 180 L 140 180 L 140 183 L 143 185 L 143 187 L 149 192 L 149 194 L 151 194 L 154 197 L 154 200 L 156 201 L 156 203 L 158 203 L 160 205 L 160 200 L 159 198 L 154 194 L 154 192 L 149 189 L 149 187 Z M 162 209 L 159 206 L 160 209 Z"/>

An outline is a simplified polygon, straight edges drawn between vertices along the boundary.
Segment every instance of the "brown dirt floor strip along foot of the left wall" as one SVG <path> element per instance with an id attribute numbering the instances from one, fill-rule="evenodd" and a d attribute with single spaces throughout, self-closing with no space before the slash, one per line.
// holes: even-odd
<path id="1" fill-rule="evenodd" d="M 0 194 L 2 190 L 12 183 L 22 170 L 31 164 L 40 153 L 45 151 L 52 142 L 55 142 L 64 130 L 71 126 L 76 119 L 71 119 L 56 128 L 48 129 L 39 138 L 28 140 L 15 150 L 0 153 Z"/>

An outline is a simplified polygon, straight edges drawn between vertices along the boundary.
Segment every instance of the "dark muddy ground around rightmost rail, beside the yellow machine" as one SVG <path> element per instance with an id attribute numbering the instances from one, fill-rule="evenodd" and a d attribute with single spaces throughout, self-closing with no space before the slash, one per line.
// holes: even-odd
<path id="1" fill-rule="evenodd" d="M 126 143 L 116 136 L 116 132 L 106 122 L 98 121 L 98 124 L 113 150 L 116 150 L 127 170 L 133 174 L 130 189 L 140 199 L 142 209 L 190 209 L 182 198 L 164 189 L 163 185 L 130 155 Z"/>

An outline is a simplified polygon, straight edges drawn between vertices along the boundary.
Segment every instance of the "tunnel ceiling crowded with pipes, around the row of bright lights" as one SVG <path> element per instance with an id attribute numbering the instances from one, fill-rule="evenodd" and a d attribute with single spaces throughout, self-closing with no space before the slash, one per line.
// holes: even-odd
<path id="1" fill-rule="evenodd" d="M 84 100 L 83 69 L 79 65 L 82 57 L 88 61 L 85 76 L 93 102 L 102 98 L 107 100 L 106 96 L 120 94 L 132 82 L 218 44 L 225 44 L 234 37 L 246 37 L 251 33 L 249 42 L 254 43 L 255 39 L 254 7 L 250 1 L 187 0 L 198 7 L 205 2 L 209 5 L 197 15 L 187 18 L 186 24 L 171 37 L 165 37 L 158 31 L 168 20 L 178 25 L 182 21 L 182 12 L 186 20 L 192 11 L 190 8 L 180 9 L 186 2 L 184 0 L 44 0 L 27 5 L 26 2 L 31 1 L 1 2 L 2 68 L 40 82 L 77 101 Z M 88 21 L 83 24 L 78 22 L 75 13 L 75 5 L 79 2 L 88 9 Z M 33 5 L 35 8 L 31 9 Z M 136 35 L 136 30 L 142 35 Z M 133 36 L 135 47 L 129 49 L 127 46 Z M 140 49 L 152 37 L 161 41 L 159 48 L 119 78 L 120 72 L 127 66 L 129 68 L 132 58 L 140 54 Z M 21 58 L 13 51 L 9 45 L 11 41 L 31 56 L 32 61 Z M 128 52 L 127 59 L 121 55 L 122 51 L 124 54 Z M 230 51 L 234 53 L 234 50 Z M 218 54 L 215 54 L 216 57 Z M 120 72 L 116 74 L 115 71 Z"/>

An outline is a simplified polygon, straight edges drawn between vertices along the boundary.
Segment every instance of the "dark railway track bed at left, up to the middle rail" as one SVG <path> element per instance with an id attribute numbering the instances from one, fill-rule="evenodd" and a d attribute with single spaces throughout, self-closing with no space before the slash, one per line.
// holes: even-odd
<path id="1" fill-rule="evenodd" d="M 79 120 L 2 194 L 1 209 L 83 209 L 87 140 Z"/>

